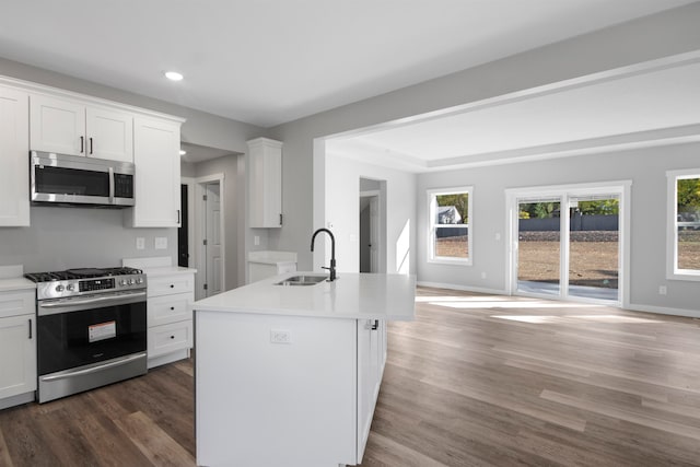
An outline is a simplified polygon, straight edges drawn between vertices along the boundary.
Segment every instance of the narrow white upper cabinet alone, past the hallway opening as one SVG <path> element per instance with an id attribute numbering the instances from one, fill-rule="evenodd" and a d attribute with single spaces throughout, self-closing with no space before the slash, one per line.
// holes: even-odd
<path id="1" fill-rule="evenodd" d="M 281 227 L 282 143 L 268 138 L 256 138 L 247 143 L 250 227 Z"/>

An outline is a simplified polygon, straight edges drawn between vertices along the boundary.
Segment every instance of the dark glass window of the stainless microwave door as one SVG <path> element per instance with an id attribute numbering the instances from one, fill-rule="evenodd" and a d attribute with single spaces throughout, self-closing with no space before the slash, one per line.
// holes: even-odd
<path id="1" fill-rule="evenodd" d="M 109 196 L 109 173 L 45 165 L 35 167 L 36 191 L 52 195 Z"/>

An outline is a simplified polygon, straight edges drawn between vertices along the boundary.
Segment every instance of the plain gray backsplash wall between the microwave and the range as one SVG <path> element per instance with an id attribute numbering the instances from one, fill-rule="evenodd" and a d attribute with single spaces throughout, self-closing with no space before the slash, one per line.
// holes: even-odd
<path id="1" fill-rule="evenodd" d="M 121 266 L 121 258 L 172 256 L 177 229 L 129 229 L 118 209 L 32 207 L 28 227 L 0 227 L 0 266 L 24 265 L 25 272 Z M 144 249 L 137 249 L 143 237 Z M 167 248 L 155 249 L 155 237 Z"/>

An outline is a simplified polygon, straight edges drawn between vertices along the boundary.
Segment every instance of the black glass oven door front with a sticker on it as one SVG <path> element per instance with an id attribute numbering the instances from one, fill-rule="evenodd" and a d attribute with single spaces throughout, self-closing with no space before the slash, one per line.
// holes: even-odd
<path id="1" fill-rule="evenodd" d="M 145 302 L 39 316 L 38 373 L 96 363 L 147 347 Z"/>

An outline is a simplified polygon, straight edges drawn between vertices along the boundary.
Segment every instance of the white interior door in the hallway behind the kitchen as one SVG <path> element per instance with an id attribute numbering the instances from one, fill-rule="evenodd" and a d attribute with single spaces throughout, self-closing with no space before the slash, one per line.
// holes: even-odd
<path id="1" fill-rule="evenodd" d="M 223 291 L 223 258 L 221 248 L 221 199 L 219 183 L 206 185 L 206 258 L 207 289 L 206 295 L 215 295 Z"/>

